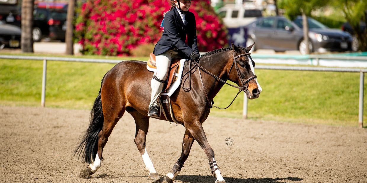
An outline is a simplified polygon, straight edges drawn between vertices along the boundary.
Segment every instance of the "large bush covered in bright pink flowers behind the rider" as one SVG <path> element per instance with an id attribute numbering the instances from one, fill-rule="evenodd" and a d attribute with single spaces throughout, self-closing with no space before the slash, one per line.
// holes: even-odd
<path id="1" fill-rule="evenodd" d="M 75 32 L 88 55 L 131 55 L 138 45 L 156 44 L 161 37 L 168 0 L 87 0 L 80 8 Z M 226 29 L 209 0 L 192 1 L 199 51 L 226 45 Z M 152 50 L 153 51 L 153 50 Z"/>

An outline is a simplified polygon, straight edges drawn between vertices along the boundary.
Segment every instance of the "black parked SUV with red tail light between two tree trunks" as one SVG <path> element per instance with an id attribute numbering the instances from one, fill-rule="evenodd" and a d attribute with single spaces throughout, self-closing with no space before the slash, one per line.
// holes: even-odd
<path id="1" fill-rule="evenodd" d="M 65 3 L 38 3 L 33 12 L 33 40 L 48 37 L 65 41 L 67 10 Z"/>

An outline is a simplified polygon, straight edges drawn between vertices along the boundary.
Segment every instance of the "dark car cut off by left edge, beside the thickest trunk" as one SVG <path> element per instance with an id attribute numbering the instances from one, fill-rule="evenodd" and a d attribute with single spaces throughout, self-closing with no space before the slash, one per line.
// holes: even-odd
<path id="1" fill-rule="evenodd" d="M 0 49 L 4 47 L 20 48 L 22 31 L 18 26 L 0 21 Z"/>

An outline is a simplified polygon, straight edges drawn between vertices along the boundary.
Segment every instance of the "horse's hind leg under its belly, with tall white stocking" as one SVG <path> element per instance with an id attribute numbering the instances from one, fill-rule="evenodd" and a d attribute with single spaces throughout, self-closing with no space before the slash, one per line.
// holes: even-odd
<path id="1" fill-rule="evenodd" d="M 149 171 L 148 179 L 160 180 L 157 171 L 155 170 L 152 161 L 149 158 L 148 152 L 145 149 L 145 138 L 149 128 L 149 117 L 140 114 L 135 109 L 128 111 L 135 119 L 136 131 L 134 142 L 143 158 L 146 169 Z"/>

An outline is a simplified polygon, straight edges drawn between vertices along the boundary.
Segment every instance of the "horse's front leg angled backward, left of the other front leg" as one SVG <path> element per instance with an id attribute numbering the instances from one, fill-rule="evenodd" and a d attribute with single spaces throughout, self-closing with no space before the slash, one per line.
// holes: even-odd
<path id="1" fill-rule="evenodd" d="M 194 137 L 191 135 L 189 130 L 186 129 L 185 135 L 183 135 L 182 140 L 182 152 L 181 156 L 176 161 L 175 165 L 172 168 L 172 171 L 170 173 L 167 173 L 166 176 L 164 176 L 164 180 L 168 183 L 172 183 L 173 180 L 175 180 L 178 173 L 181 171 L 181 168 L 183 166 L 183 163 L 187 160 L 189 157 L 190 149 L 192 146 L 192 143 L 194 142 Z"/>

